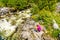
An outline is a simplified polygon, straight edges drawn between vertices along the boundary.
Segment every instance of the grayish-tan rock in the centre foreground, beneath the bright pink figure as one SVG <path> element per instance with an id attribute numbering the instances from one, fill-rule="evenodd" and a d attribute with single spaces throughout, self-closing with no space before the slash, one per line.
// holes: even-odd
<path id="1" fill-rule="evenodd" d="M 27 19 L 24 23 L 24 25 L 22 26 L 22 33 L 21 33 L 21 37 L 22 40 L 41 40 L 41 36 L 43 35 L 43 31 L 41 32 L 36 32 L 34 29 L 36 22 L 31 20 L 31 19 Z"/>

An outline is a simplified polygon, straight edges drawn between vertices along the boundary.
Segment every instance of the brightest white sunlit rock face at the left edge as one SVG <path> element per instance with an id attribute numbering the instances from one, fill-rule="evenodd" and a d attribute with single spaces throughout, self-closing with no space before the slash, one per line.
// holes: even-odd
<path id="1" fill-rule="evenodd" d="M 14 33 L 16 26 L 12 26 L 6 19 L 0 20 L 0 32 L 3 33 L 2 36 L 8 37 Z"/>

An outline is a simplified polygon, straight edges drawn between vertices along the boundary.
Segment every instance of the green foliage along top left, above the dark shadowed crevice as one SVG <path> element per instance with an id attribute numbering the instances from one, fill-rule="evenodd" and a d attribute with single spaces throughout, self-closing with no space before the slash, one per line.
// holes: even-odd
<path id="1" fill-rule="evenodd" d="M 0 2 L 7 7 L 14 7 L 15 9 L 24 9 L 29 3 L 28 0 L 0 0 Z"/>

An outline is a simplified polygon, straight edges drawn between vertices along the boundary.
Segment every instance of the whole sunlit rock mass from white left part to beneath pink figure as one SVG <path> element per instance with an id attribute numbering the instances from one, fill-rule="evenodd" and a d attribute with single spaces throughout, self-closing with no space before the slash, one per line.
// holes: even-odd
<path id="1" fill-rule="evenodd" d="M 11 36 L 10 40 L 41 40 L 44 32 L 36 31 L 36 22 L 31 19 L 31 14 L 29 13 L 30 10 L 28 9 L 1 19 L 0 32 L 3 33 L 1 36 L 8 37 L 7 40 L 10 39 L 9 36 Z M 12 25 L 12 23 L 15 24 Z"/>

